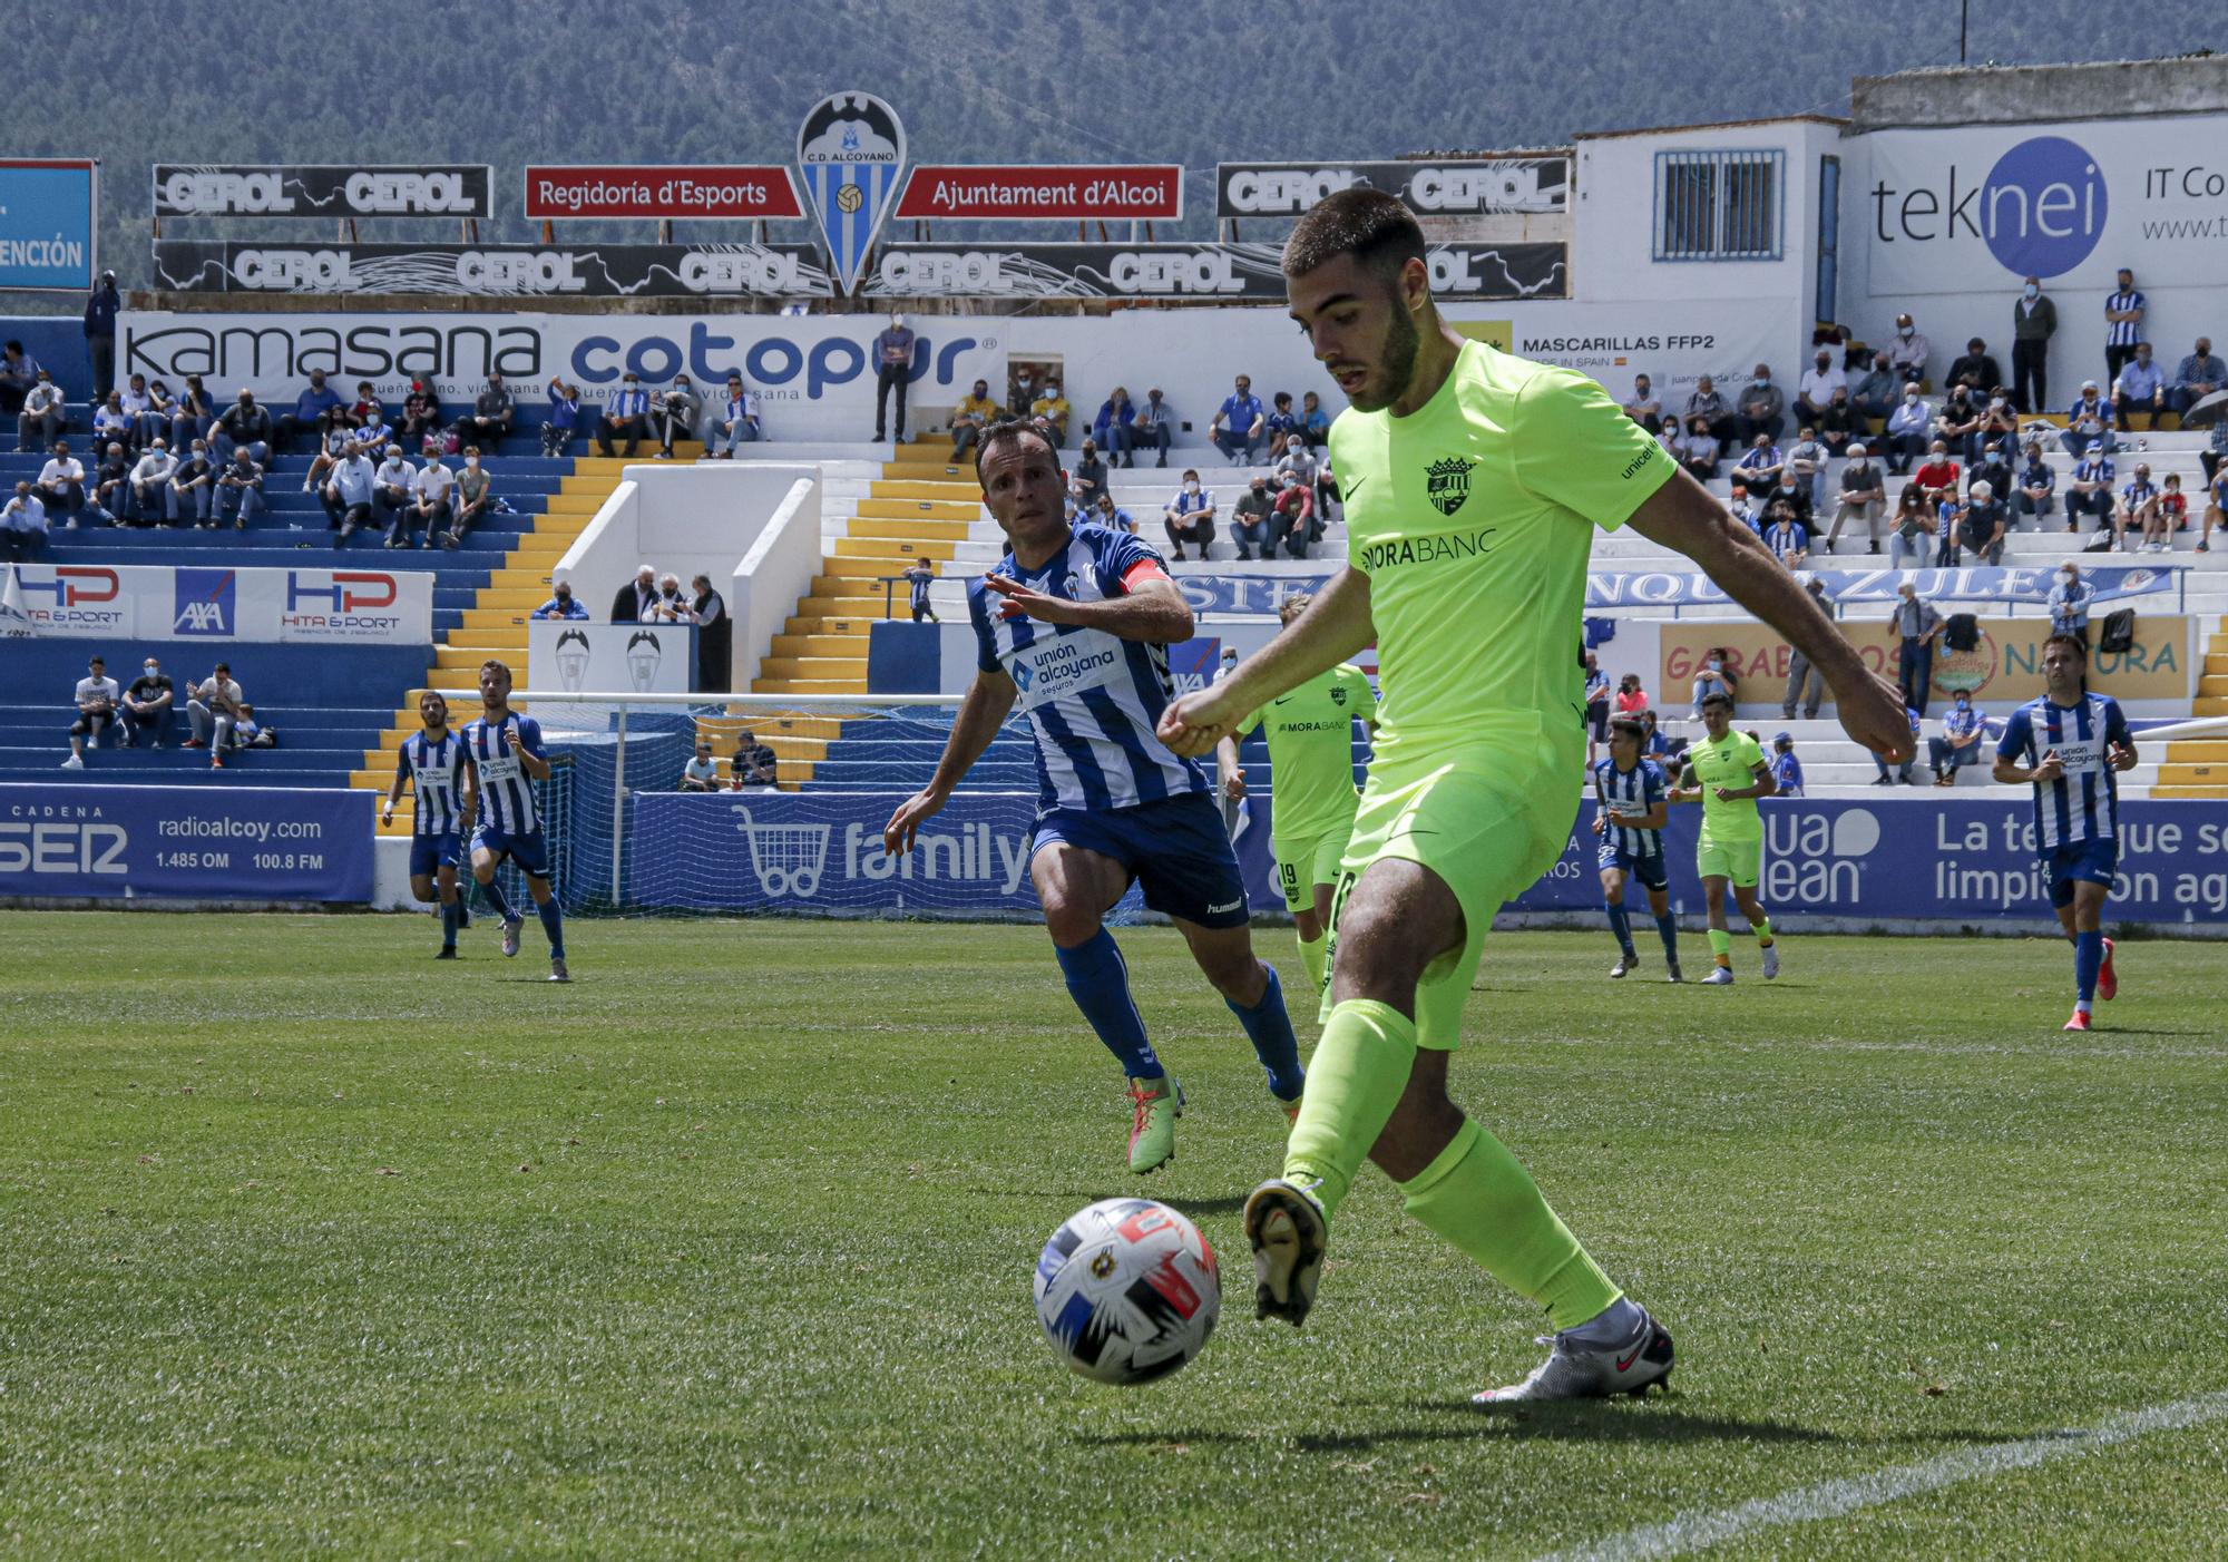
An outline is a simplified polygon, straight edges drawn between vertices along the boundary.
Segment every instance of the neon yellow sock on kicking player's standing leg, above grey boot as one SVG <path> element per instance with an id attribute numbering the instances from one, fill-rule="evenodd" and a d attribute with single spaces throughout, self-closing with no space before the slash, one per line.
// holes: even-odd
<path id="1" fill-rule="evenodd" d="M 1546 1208 L 1524 1163 L 1473 1121 L 1401 1192 L 1408 1214 L 1544 1306 L 1555 1328 L 1589 1324 L 1624 1295 Z"/>

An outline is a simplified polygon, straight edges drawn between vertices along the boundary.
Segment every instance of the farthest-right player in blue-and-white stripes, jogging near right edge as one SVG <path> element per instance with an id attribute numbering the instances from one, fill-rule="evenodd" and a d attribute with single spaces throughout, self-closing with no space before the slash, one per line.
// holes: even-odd
<path id="1" fill-rule="evenodd" d="M 2103 902 L 2119 871 L 2119 771 L 2134 769 L 2134 735 L 2119 700 L 2085 691 L 2088 644 L 2043 642 L 2043 695 L 2012 711 L 1996 744 L 1996 780 L 2034 787 L 2034 840 L 2050 905 L 2074 943 L 2074 1016 L 2088 1029 L 2099 996 L 2119 992 Z"/>

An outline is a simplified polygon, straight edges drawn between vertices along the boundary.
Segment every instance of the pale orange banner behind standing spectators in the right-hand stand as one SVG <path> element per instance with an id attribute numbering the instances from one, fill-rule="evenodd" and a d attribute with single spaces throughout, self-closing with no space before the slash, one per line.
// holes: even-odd
<path id="1" fill-rule="evenodd" d="M 1889 633 L 1887 619 L 1843 624 L 1865 666 L 1896 680 L 1903 668 L 1903 642 Z M 1983 617 L 1981 640 L 1972 651 L 1954 651 L 1947 640 L 1934 642 L 1934 693 L 1941 700 L 1965 691 L 1992 715 L 2007 713 L 2043 693 L 2043 640 L 2048 617 Z M 2090 689 L 2114 700 L 2188 700 L 2190 622 L 2186 617 L 2139 617 L 2134 644 L 2126 651 L 2090 653 Z M 1762 624 L 1740 622 L 1673 622 L 1662 624 L 1660 682 L 1664 704 L 1682 704 L 1696 673 L 1711 651 L 1740 677 L 1742 704 L 1778 704 L 1787 686 L 1787 642 Z M 1834 695 L 1827 691 L 1827 702 Z"/>

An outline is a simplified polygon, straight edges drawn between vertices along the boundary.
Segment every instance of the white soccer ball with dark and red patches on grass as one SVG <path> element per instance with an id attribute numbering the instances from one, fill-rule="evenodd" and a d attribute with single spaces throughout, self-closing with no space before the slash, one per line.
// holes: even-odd
<path id="1" fill-rule="evenodd" d="M 1223 1279 L 1199 1228 L 1152 1199 L 1101 1199 L 1052 1232 L 1036 1259 L 1036 1321 L 1069 1368 L 1150 1384 L 1199 1355 Z"/>

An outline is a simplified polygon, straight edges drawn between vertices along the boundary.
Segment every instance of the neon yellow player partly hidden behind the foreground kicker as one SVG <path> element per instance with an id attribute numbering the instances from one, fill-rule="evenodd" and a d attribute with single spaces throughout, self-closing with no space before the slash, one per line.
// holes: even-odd
<path id="1" fill-rule="evenodd" d="M 1277 608 L 1277 619 L 1290 624 L 1308 611 L 1308 593 L 1294 593 Z M 1237 802 L 1245 795 L 1245 771 L 1239 767 L 1239 740 L 1261 729 L 1268 740 L 1268 771 L 1274 780 L 1270 809 L 1270 842 L 1277 849 L 1277 889 L 1283 909 L 1292 914 L 1299 934 L 1299 963 L 1308 967 L 1315 996 L 1321 1003 L 1323 934 L 1330 927 L 1330 891 L 1339 882 L 1339 858 L 1355 833 L 1355 722 L 1377 731 L 1377 691 L 1359 666 L 1341 662 L 1317 673 L 1288 695 L 1239 722 L 1239 729 L 1214 744 L 1223 795 Z"/>

